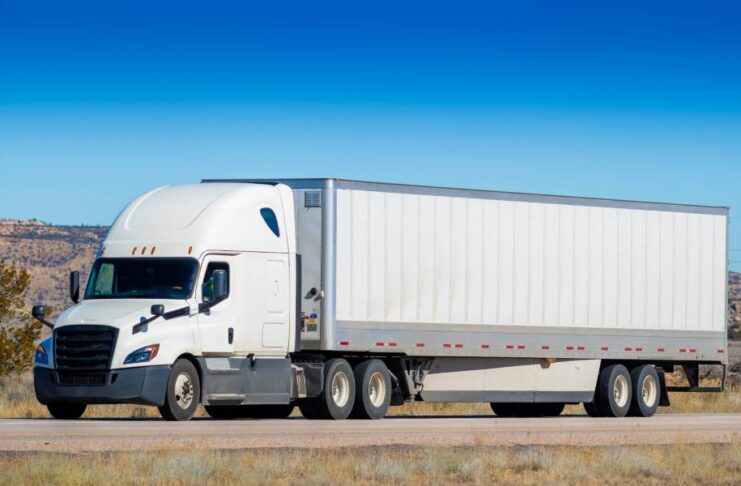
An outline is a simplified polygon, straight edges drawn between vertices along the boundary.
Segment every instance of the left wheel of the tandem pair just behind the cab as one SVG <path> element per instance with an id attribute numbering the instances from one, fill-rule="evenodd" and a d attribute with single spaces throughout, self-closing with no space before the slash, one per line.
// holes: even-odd
<path id="1" fill-rule="evenodd" d="M 324 389 L 316 398 L 299 404 L 308 419 L 344 420 L 355 403 L 355 376 L 342 358 L 331 359 L 324 365 Z"/>

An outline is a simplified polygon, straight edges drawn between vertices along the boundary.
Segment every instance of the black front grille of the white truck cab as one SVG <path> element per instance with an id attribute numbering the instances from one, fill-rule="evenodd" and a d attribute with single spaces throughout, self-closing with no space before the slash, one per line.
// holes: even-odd
<path id="1" fill-rule="evenodd" d="M 54 330 L 57 370 L 106 371 L 111 368 L 118 329 L 77 325 Z"/>

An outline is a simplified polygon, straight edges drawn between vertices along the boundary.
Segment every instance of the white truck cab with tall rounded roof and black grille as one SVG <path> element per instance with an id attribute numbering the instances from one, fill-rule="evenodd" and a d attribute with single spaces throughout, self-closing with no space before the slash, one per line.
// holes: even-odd
<path id="1" fill-rule="evenodd" d="M 274 386 L 248 401 L 288 404 L 287 358 L 296 345 L 292 208 L 289 188 L 265 184 L 167 186 L 129 204 L 100 248 L 84 298 L 41 343 L 48 358 L 36 363 L 39 399 L 62 416 L 84 404 L 132 402 L 184 418 L 201 401 L 200 385 L 209 385 L 188 373 L 218 377 L 232 369 L 230 357 L 249 356 L 249 365 L 265 370 L 261 382 Z M 178 362 L 183 376 L 172 374 Z M 205 403 L 244 401 L 245 390 L 220 381 L 211 380 Z"/>

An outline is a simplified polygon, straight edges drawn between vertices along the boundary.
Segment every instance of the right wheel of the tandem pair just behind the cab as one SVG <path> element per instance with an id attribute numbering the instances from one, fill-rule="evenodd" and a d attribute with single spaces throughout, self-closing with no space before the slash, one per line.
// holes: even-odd
<path id="1" fill-rule="evenodd" d="M 391 375 L 383 361 L 369 359 L 355 367 L 355 405 L 353 418 L 383 418 L 391 403 Z"/>

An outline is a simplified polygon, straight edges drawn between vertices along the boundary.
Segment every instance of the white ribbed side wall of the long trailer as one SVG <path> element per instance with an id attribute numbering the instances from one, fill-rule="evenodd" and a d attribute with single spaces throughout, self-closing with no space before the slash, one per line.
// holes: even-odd
<path id="1" fill-rule="evenodd" d="M 339 188 L 336 218 L 337 322 L 725 330 L 725 214 Z"/>

